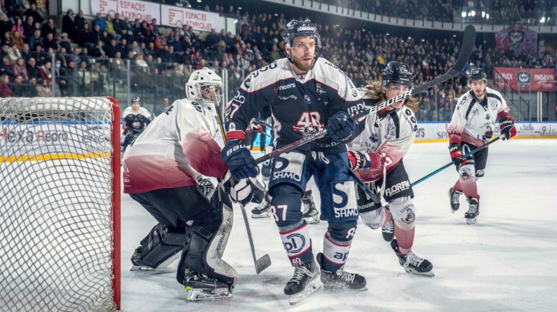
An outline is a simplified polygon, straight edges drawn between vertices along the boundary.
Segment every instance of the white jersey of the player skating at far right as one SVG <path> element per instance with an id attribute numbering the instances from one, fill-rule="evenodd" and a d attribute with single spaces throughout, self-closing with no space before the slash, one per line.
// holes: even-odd
<path id="1" fill-rule="evenodd" d="M 496 130 L 495 121 L 508 116 L 508 111 L 507 102 L 501 93 L 492 88 L 485 88 L 482 102 L 478 102 L 473 91 L 469 91 L 458 98 L 453 118 L 446 130 L 460 133 L 464 142 L 481 146 L 492 138 Z"/>

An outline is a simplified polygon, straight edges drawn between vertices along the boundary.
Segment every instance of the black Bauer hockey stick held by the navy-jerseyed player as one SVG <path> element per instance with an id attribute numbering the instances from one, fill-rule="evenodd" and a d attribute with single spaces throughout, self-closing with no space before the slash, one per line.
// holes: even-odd
<path id="1" fill-rule="evenodd" d="M 450 68 L 450 70 L 445 72 L 443 75 L 437 77 L 436 79 L 433 79 L 430 82 L 427 82 L 427 83 L 425 83 L 421 86 L 418 86 L 417 88 L 414 88 L 411 91 L 408 91 L 406 93 L 402 93 L 401 95 L 398 95 L 397 97 L 392 98 L 391 100 L 386 100 L 384 102 L 381 102 L 381 103 L 375 105 L 374 107 L 370 107 L 370 109 L 368 109 L 366 111 L 362 111 L 361 113 L 350 117 L 350 119 L 358 120 L 359 118 L 368 116 L 368 114 L 370 114 L 370 113 L 373 113 L 375 111 L 380 111 L 380 110 L 384 109 L 385 107 L 390 107 L 391 105 L 395 104 L 396 102 L 400 102 L 402 100 L 405 100 L 406 98 L 409 98 L 411 95 L 416 95 L 418 93 L 421 93 L 422 91 L 425 91 L 429 88 L 432 88 L 432 86 L 435 86 L 437 84 L 441 84 L 441 82 L 447 81 L 448 79 L 455 77 L 458 73 L 460 73 L 464 69 L 464 65 L 466 65 L 466 63 L 468 63 L 468 60 L 470 59 L 470 55 L 472 54 L 472 48 L 474 46 L 474 41 L 475 40 L 476 40 L 476 29 L 472 25 L 466 26 L 466 28 L 464 29 L 464 38 L 462 40 L 462 46 L 460 47 L 460 54 L 458 56 L 457 61 L 455 62 L 455 65 L 453 65 L 453 67 Z M 282 153 L 286 153 L 290 150 L 298 148 L 299 146 L 302 146 L 305 143 L 314 141 L 316 139 L 320 139 L 320 138 L 324 137 L 325 134 L 327 134 L 327 129 L 319 130 L 319 131 L 315 132 L 314 134 L 312 134 L 311 136 L 299 139 L 298 141 L 292 142 L 292 143 L 290 143 L 288 145 L 285 145 L 281 148 L 277 148 L 276 150 L 273 150 L 271 153 L 263 155 L 263 156 L 259 157 L 258 159 L 255 159 L 255 163 L 260 164 L 262 162 L 266 162 L 267 160 L 271 159 L 272 157 L 281 155 Z"/>

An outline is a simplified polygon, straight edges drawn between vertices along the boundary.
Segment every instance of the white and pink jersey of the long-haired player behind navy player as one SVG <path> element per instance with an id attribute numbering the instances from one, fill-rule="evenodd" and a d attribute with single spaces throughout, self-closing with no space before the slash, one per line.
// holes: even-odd
<path id="1" fill-rule="evenodd" d="M 363 91 L 360 90 L 361 93 Z M 363 94 L 362 94 L 363 95 Z M 367 96 L 363 95 L 364 101 Z M 366 118 L 365 128 L 354 140 L 347 144 L 348 150 L 361 153 L 381 153 L 385 157 L 386 172 L 391 172 L 408 153 L 416 138 L 416 116 L 403 105 L 399 109 L 384 114 L 372 113 Z M 356 174 L 364 182 L 372 182 L 383 177 L 382 170 L 359 170 Z"/>

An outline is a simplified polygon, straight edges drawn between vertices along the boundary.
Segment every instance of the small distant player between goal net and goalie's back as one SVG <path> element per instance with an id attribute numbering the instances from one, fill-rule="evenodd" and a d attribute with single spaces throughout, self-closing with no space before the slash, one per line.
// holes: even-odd
<path id="1" fill-rule="evenodd" d="M 122 120 L 124 120 L 124 132 L 122 133 L 122 141 L 120 143 L 122 154 L 125 153 L 127 146 L 145 130 L 151 119 L 151 113 L 145 107 L 141 107 L 139 96 L 134 96 L 132 106 L 124 109 L 122 113 Z"/>

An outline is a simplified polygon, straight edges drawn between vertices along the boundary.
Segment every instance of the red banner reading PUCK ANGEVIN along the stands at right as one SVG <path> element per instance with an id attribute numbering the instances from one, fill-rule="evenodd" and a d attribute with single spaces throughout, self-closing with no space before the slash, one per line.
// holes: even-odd
<path id="1" fill-rule="evenodd" d="M 493 82 L 500 90 L 555 91 L 555 69 L 553 68 L 507 68 L 493 70 Z"/>

